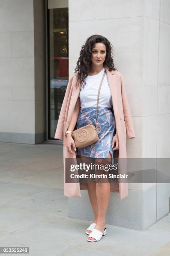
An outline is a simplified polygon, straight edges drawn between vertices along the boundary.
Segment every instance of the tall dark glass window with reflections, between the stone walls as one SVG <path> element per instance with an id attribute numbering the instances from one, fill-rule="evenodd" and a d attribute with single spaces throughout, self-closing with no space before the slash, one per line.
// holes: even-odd
<path id="1" fill-rule="evenodd" d="M 48 10 L 48 138 L 54 139 L 68 84 L 68 8 Z"/>

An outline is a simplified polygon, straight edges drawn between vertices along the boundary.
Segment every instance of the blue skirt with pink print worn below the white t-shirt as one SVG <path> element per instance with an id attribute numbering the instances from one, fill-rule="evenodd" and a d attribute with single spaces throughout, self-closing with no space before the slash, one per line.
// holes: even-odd
<path id="1" fill-rule="evenodd" d="M 95 125 L 96 108 L 80 108 L 75 129 L 92 124 Z M 76 148 L 77 154 L 92 158 L 108 158 L 109 151 L 113 157 L 112 138 L 115 136 L 115 119 L 111 108 L 99 107 L 97 111 L 97 133 L 99 140 L 90 146 Z"/>

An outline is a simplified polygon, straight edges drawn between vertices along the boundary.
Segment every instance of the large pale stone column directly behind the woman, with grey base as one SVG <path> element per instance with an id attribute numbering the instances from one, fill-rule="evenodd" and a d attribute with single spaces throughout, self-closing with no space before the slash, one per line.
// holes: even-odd
<path id="1" fill-rule="evenodd" d="M 124 79 L 136 133 L 128 158 L 170 157 L 170 2 L 70 0 L 70 75 L 92 34 L 111 41 Z M 107 223 L 143 230 L 168 213 L 170 184 L 129 184 L 128 192 L 123 200 L 111 193 Z M 93 220 L 87 190 L 81 195 L 69 198 L 69 216 Z"/>

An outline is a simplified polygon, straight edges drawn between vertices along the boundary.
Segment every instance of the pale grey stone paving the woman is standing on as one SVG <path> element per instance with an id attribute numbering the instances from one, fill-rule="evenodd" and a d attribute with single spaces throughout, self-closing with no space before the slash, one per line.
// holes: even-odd
<path id="1" fill-rule="evenodd" d="M 30 256 L 170 256 L 170 215 L 145 231 L 106 225 L 101 241 L 87 242 L 91 222 L 67 218 L 62 166 L 61 145 L 0 143 L 1 247 L 27 246 Z"/>

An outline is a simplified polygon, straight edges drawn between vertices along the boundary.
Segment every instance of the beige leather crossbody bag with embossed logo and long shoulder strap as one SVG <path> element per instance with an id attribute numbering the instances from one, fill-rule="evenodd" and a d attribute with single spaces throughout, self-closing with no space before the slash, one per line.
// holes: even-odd
<path id="1" fill-rule="evenodd" d="M 100 87 L 98 90 L 98 95 L 97 95 L 96 122 L 97 122 L 97 110 L 98 110 L 98 103 L 99 103 L 100 88 L 102 86 L 105 73 L 106 71 L 104 71 L 103 73 L 102 80 L 100 82 Z M 85 125 L 72 132 L 72 138 L 74 139 L 76 148 L 84 148 L 98 141 L 99 137 L 97 134 L 96 122 L 95 122 L 95 125 Z"/>

